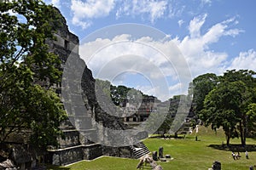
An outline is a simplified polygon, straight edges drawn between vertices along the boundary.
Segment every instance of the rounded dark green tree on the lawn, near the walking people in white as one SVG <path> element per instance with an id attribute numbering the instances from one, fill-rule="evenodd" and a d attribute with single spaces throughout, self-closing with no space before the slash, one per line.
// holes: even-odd
<path id="1" fill-rule="evenodd" d="M 230 138 L 237 137 L 238 114 L 241 111 L 241 102 L 245 88 L 242 82 L 223 82 L 207 94 L 204 109 L 201 111 L 201 120 L 206 126 L 211 125 L 213 130 L 223 127 L 227 144 Z"/>

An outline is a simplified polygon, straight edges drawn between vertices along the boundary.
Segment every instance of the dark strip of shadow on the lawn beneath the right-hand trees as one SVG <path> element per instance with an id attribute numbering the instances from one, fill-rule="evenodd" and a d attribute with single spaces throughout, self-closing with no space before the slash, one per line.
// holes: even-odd
<path id="1" fill-rule="evenodd" d="M 241 144 L 230 144 L 229 146 L 225 144 L 209 144 L 208 147 L 214 148 L 216 150 L 227 150 L 227 151 L 256 151 L 256 145 L 255 144 L 247 144 L 246 146 L 243 146 Z"/>

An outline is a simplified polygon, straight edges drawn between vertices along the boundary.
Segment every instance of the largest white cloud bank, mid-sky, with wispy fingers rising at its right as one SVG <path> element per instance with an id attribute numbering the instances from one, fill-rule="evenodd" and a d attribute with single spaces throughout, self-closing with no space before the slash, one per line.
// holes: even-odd
<path id="1" fill-rule="evenodd" d="M 248 68 L 250 65 L 253 68 L 256 58 L 253 50 L 241 53 L 230 64 L 227 60 L 228 54 L 209 48 L 220 37 L 236 37 L 241 33 L 239 29 L 230 28 L 236 24 L 236 19 L 224 20 L 203 32 L 201 27 L 206 20 L 207 14 L 191 20 L 189 35 L 183 39 L 166 36 L 161 40 L 154 40 L 149 36 L 134 38 L 121 34 L 113 38 L 96 38 L 95 41 L 85 42 L 80 46 L 80 55 L 84 57 L 94 76 L 109 81 L 119 73 L 137 71 L 147 77 L 152 82 L 151 87 L 154 87 L 150 90 L 148 85 L 142 84 L 139 89 L 150 94 L 160 93 L 157 95 L 159 99 L 186 94 L 193 77 L 206 72 L 220 74 L 228 68 L 227 65 L 236 68 Z M 168 93 L 161 91 L 166 89 L 163 84 Z"/>

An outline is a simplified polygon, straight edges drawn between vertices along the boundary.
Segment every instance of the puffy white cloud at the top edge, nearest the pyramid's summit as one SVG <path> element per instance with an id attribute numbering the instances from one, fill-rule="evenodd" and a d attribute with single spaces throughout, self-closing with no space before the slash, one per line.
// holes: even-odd
<path id="1" fill-rule="evenodd" d="M 73 25 L 79 25 L 85 29 L 91 25 L 90 19 L 108 16 L 114 5 L 114 0 L 88 0 L 87 2 L 72 0 Z"/>

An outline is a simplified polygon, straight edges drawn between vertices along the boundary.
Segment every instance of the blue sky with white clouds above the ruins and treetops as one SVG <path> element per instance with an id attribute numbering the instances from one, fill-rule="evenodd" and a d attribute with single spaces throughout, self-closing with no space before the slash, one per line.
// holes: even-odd
<path id="1" fill-rule="evenodd" d="M 70 31 L 79 36 L 80 56 L 94 77 L 115 85 L 139 88 L 164 100 L 185 94 L 189 82 L 207 72 L 256 71 L 254 0 L 44 2 L 60 8 Z M 125 23 L 140 26 L 125 31 Z M 113 34 L 104 37 L 100 29 Z M 165 41 L 149 33 L 154 29 Z"/>

